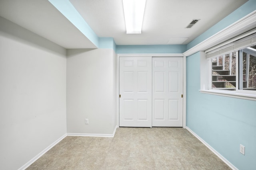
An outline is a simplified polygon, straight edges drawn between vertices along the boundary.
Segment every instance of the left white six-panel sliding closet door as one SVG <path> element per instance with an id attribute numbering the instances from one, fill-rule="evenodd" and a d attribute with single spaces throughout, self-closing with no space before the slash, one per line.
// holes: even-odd
<path id="1" fill-rule="evenodd" d="M 152 127 L 152 57 L 120 57 L 119 125 Z"/>

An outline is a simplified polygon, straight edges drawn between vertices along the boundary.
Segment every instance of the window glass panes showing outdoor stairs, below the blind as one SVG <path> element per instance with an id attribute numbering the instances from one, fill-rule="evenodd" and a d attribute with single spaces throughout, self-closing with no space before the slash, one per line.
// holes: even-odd
<path id="1" fill-rule="evenodd" d="M 236 64 L 238 56 L 238 64 Z M 256 90 L 256 45 L 212 59 L 212 89 Z M 236 67 L 238 65 L 238 82 Z"/>

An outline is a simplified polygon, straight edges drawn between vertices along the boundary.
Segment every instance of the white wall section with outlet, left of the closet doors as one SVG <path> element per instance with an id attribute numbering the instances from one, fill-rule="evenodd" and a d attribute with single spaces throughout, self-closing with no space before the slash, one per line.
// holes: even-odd
<path id="1" fill-rule="evenodd" d="M 89 124 L 85 124 L 89 119 Z M 113 49 L 67 50 L 67 132 L 112 134 L 116 127 Z"/>

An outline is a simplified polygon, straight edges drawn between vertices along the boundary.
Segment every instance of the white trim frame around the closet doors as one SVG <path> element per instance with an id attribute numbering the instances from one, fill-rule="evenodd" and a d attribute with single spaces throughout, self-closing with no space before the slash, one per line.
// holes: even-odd
<path id="1" fill-rule="evenodd" d="M 186 129 L 186 57 L 182 53 L 117 54 L 116 73 L 116 125 L 119 127 L 119 57 L 183 57 L 183 117 L 182 127 Z"/>

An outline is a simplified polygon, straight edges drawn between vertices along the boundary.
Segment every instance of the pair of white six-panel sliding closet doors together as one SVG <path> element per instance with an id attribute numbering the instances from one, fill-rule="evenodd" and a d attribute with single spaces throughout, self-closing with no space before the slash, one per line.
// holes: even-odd
<path id="1" fill-rule="evenodd" d="M 120 127 L 182 127 L 182 57 L 120 57 Z"/>

